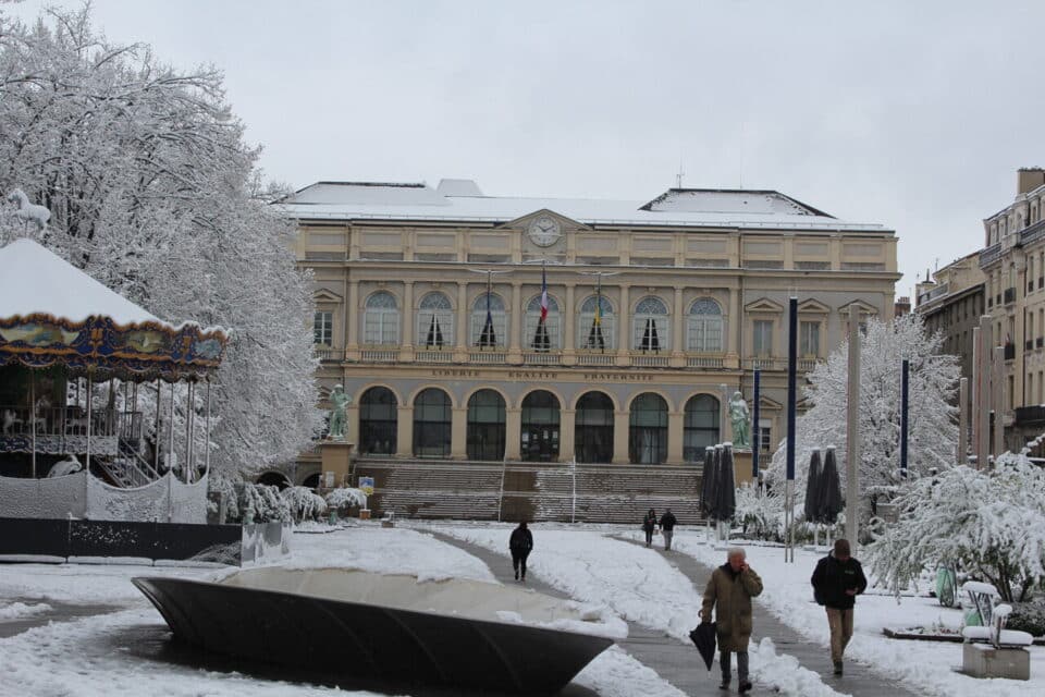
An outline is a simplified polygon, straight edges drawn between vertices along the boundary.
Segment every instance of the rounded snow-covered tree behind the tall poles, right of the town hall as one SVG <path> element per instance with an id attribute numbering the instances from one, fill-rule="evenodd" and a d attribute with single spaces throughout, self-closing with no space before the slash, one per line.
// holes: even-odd
<path id="1" fill-rule="evenodd" d="M 899 481 L 900 362 L 910 360 L 908 389 L 908 468 L 918 477 L 931 468 L 954 465 L 958 442 L 957 414 L 951 406 L 958 386 L 955 356 L 939 353 L 941 334 L 930 334 L 918 315 L 889 322 L 868 320 L 860 347 L 860 486 L 889 487 Z M 809 458 L 814 448 L 836 447 L 838 474 L 845 491 L 846 406 L 849 342 L 807 376 L 804 396 L 811 405 L 796 424 L 796 498 L 804 499 Z M 785 478 L 786 441 L 767 470 L 773 484 Z"/>

